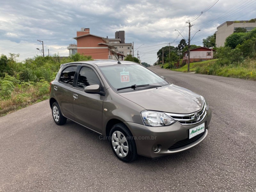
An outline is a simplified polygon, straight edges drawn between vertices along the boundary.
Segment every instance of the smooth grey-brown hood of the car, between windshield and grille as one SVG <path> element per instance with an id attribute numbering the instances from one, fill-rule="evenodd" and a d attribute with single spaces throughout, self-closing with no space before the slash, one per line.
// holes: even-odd
<path id="1" fill-rule="evenodd" d="M 119 93 L 147 110 L 189 114 L 202 108 L 201 96 L 177 85 Z"/>

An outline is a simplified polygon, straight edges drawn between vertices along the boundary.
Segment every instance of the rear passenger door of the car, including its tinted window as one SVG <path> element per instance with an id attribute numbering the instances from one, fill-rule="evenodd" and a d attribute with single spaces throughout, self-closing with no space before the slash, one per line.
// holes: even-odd
<path id="1" fill-rule="evenodd" d="M 73 110 L 73 83 L 75 79 L 77 66 L 69 66 L 64 68 L 60 74 L 58 82 L 54 84 L 54 94 L 60 105 L 62 114 L 74 120 Z"/>

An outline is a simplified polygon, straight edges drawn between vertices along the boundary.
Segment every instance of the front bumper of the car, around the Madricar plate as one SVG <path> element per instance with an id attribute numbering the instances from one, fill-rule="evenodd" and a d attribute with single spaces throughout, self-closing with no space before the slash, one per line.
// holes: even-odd
<path id="1" fill-rule="evenodd" d="M 209 108 L 204 119 L 200 121 L 200 123 L 193 125 L 181 125 L 178 122 L 175 122 L 170 126 L 163 127 L 149 127 L 131 122 L 125 122 L 125 124 L 132 132 L 138 155 L 156 158 L 187 150 L 202 142 L 208 134 L 211 118 L 212 111 Z M 193 142 L 190 142 L 188 139 L 189 129 L 203 123 L 205 128 L 204 133 L 202 133 L 201 136 Z M 188 144 L 183 146 L 181 145 L 181 147 L 177 148 L 170 148 L 174 144 L 177 145 L 177 142 L 187 142 Z M 159 146 L 160 150 L 154 152 L 153 147 L 156 145 Z"/>

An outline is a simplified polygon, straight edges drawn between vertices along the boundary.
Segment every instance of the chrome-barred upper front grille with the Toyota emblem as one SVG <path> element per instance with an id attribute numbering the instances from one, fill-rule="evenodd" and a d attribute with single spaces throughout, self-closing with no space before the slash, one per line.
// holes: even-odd
<path id="1" fill-rule="evenodd" d="M 194 118 L 195 114 L 198 113 L 200 115 L 200 119 L 196 121 Z M 175 121 L 178 121 L 182 125 L 186 124 L 196 124 L 204 119 L 206 116 L 206 105 L 203 104 L 203 107 L 194 113 L 191 114 L 175 114 L 175 113 L 165 113 L 168 116 L 172 117 Z"/>

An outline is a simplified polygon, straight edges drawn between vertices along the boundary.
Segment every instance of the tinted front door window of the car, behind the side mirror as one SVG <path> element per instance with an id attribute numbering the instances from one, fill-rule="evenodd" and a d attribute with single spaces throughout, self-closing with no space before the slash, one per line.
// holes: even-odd
<path id="1" fill-rule="evenodd" d="M 82 67 L 78 75 L 77 87 L 84 89 L 86 86 L 95 84 L 100 84 L 96 73 L 89 67 Z"/>

